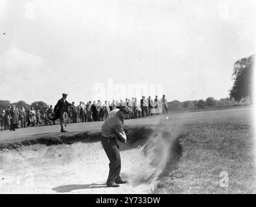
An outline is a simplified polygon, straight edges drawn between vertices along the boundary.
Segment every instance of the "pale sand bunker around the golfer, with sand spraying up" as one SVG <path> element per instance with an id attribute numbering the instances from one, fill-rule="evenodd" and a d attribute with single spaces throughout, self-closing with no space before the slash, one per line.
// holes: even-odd
<path id="1" fill-rule="evenodd" d="M 176 167 L 181 146 L 170 133 L 143 134 L 132 143 L 140 149 L 120 144 L 121 177 L 129 181 L 120 188 L 106 188 L 109 161 L 100 142 L 76 142 L 1 151 L 0 193 L 150 193 Z"/>

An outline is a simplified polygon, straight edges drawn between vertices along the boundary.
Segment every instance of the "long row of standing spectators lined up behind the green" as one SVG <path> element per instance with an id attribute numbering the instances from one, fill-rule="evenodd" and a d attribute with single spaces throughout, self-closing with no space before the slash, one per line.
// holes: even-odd
<path id="1" fill-rule="evenodd" d="M 165 98 L 165 95 L 160 100 L 157 96 L 154 99 L 150 96 L 148 98 L 142 96 L 141 100 L 137 100 L 137 98 L 126 98 L 124 101 L 120 100 L 119 102 L 112 100 L 112 102 L 105 101 L 102 103 L 98 100 L 97 102 L 90 101 L 86 104 L 80 102 L 78 105 L 72 102 L 68 110 L 67 123 L 103 121 L 110 111 L 124 105 L 128 106 L 130 111 L 132 111 L 128 119 L 161 113 L 165 114 L 168 112 L 167 98 Z M 54 113 L 52 105 L 45 106 L 45 109 L 41 111 L 39 109 L 35 110 L 34 107 L 25 110 L 24 107 L 19 109 L 16 105 L 10 105 L 7 109 L 1 111 L 1 129 L 15 131 L 19 127 L 34 127 L 37 124 L 54 125 L 55 121 L 49 119 L 52 113 Z"/>

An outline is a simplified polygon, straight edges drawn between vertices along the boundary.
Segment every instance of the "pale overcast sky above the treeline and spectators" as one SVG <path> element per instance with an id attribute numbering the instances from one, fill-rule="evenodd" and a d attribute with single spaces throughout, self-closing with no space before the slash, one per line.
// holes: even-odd
<path id="1" fill-rule="evenodd" d="M 0 100 L 54 104 L 66 92 L 87 102 L 111 80 L 161 84 L 169 101 L 226 98 L 233 63 L 255 53 L 255 8 L 255 0 L 0 0 Z"/>

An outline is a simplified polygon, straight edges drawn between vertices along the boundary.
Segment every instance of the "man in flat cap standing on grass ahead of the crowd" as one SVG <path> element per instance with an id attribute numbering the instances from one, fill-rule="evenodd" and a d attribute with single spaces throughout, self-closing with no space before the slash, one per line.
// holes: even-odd
<path id="1" fill-rule="evenodd" d="M 67 102 L 66 100 L 67 94 L 63 93 L 62 98 L 58 100 L 58 103 L 54 106 L 54 118 L 51 118 L 51 120 L 56 120 L 57 118 L 60 118 L 60 127 L 61 132 L 67 132 L 65 130 L 65 127 L 67 125 L 67 109 L 72 104 Z"/>

